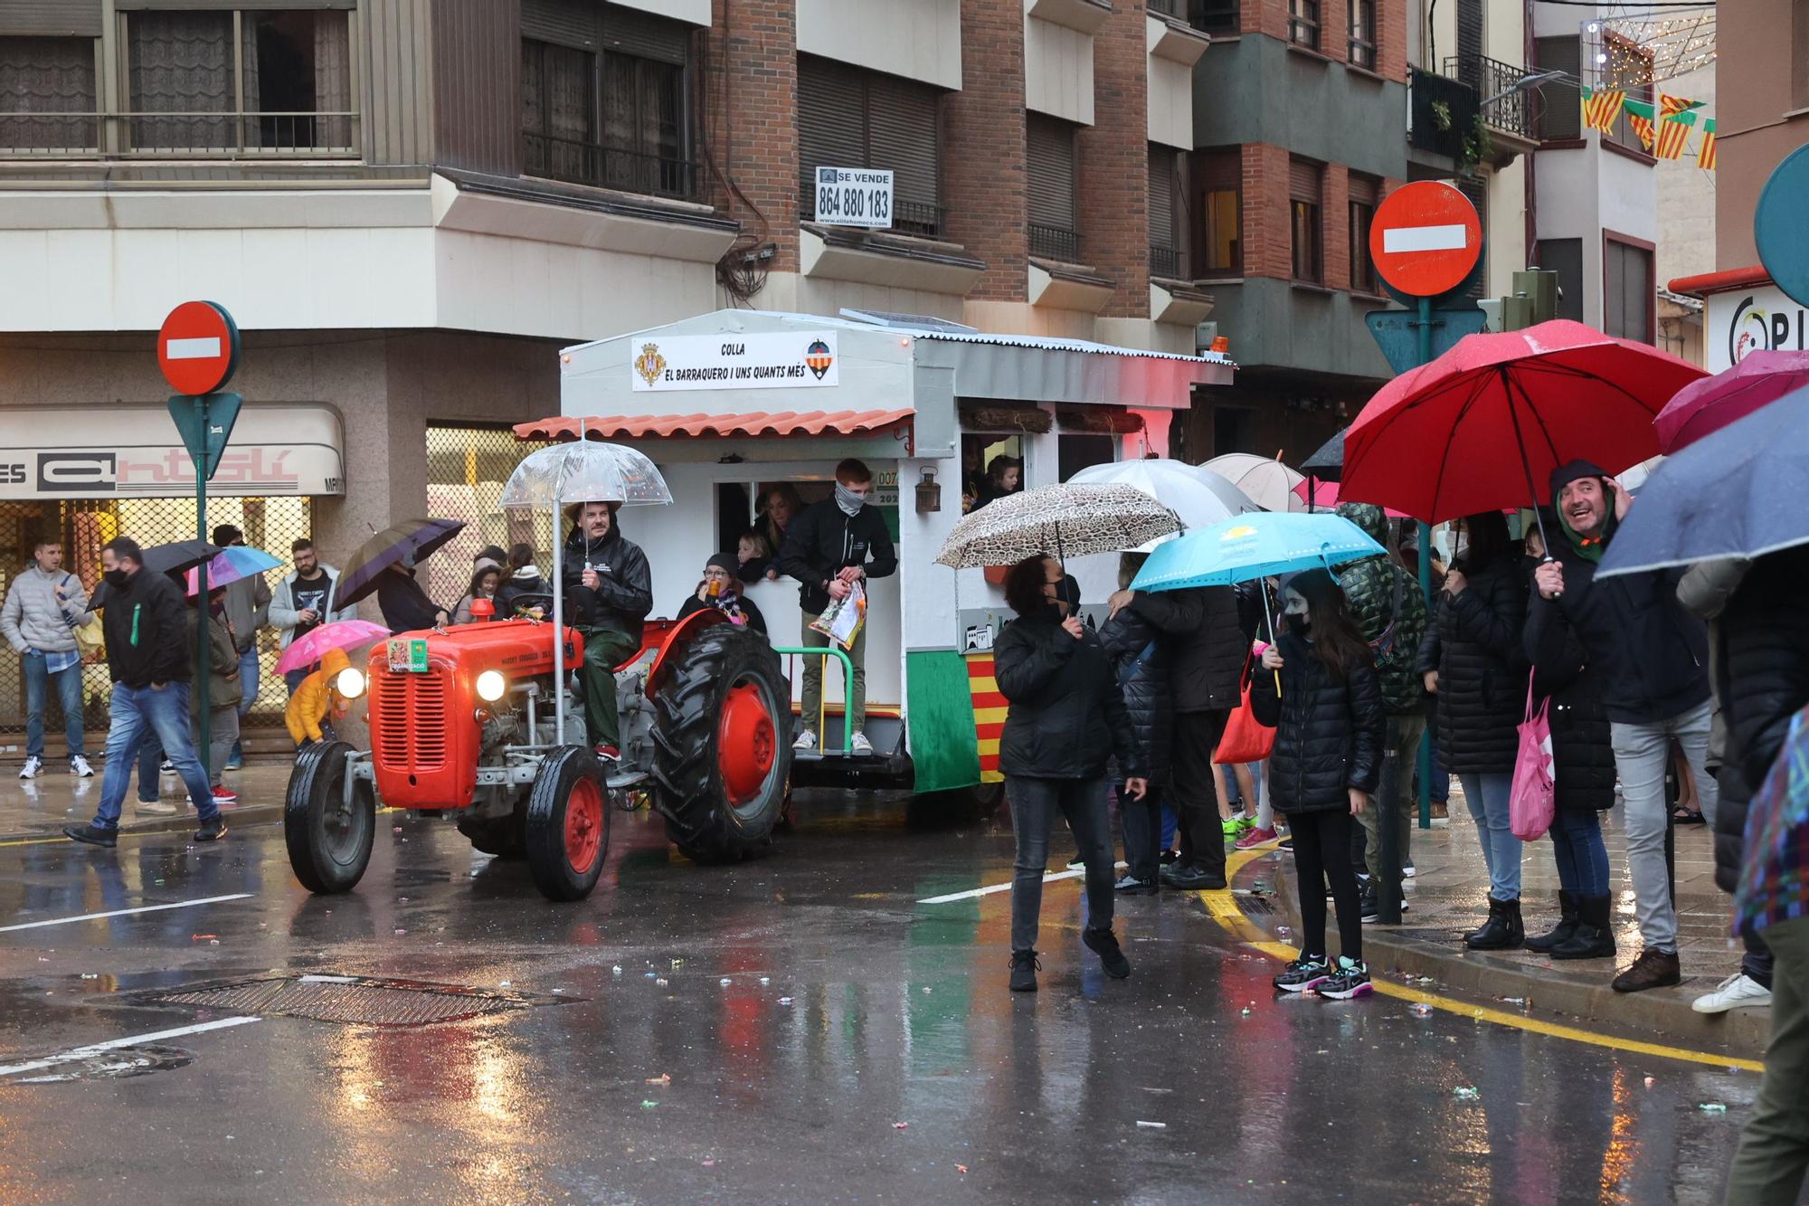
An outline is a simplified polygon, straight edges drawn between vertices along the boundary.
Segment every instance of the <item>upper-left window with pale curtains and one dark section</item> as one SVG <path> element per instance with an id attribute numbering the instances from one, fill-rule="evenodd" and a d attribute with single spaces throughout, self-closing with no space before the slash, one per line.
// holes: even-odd
<path id="1" fill-rule="evenodd" d="M 128 13 L 127 141 L 152 152 L 351 152 L 351 40 L 333 9 Z"/>

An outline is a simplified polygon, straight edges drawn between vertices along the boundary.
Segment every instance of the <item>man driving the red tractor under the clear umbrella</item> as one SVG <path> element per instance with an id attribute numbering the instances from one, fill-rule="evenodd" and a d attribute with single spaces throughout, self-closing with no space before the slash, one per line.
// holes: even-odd
<path id="1" fill-rule="evenodd" d="M 615 668 L 640 648 L 653 610 L 653 572 L 640 545 L 622 536 L 613 502 L 579 503 L 559 570 L 566 623 L 584 636 L 584 732 L 608 764 L 622 757 Z"/>

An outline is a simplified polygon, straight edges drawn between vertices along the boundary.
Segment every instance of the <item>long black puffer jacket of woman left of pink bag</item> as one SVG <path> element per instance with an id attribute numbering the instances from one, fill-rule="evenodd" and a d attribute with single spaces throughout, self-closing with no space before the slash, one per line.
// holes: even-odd
<path id="1" fill-rule="evenodd" d="M 1453 775 L 1511 775 L 1527 708 L 1527 579 L 1520 558 L 1440 594 L 1415 670 L 1438 672 L 1438 757 Z"/>

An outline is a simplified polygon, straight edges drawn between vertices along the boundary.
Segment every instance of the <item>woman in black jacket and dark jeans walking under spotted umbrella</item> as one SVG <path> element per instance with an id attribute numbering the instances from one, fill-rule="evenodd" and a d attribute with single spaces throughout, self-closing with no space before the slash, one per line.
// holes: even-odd
<path id="1" fill-rule="evenodd" d="M 1017 860 L 1011 875 L 1011 991 L 1037 991 L 1037 914 L 1049 866 L 1049 826 L 1067 818 L 1087 864 L 1087 925 L 1080 938 L 1105 974 L 1123 980 L 1131 962 L 1113 936 L 1113 846 L 1105 806 L 1111 757 L 1125 768 L 1125 793 L 1149 791 L 1143 751 L 1131 730 L 1118 675 L 1096 632 L 1055 607 L 1062 567 L 1026 558 L 1006 576 L 1018 614 L 993 646 L 993 675 L 1009 703 L 999 770 L 1011 800 Z"/>

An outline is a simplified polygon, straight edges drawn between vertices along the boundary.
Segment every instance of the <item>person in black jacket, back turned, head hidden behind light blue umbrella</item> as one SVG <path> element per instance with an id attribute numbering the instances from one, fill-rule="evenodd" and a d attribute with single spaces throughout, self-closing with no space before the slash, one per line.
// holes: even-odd
<path id="1" fill-rule="evenodd" d="M 1174 692 L 1170 790 L 1181 820 L 1181 857 L 1161 869 L 1161 882 L 1183 891 L 1225 887 L 1225 824 L 1212 751 L 1243 699 L 1248 645 L 1237 623 L 1237 596 L 1230 587 L 1120 590 L 1109 603 L 1113 614 L 1132 608 L 1167 645 Z"/>

